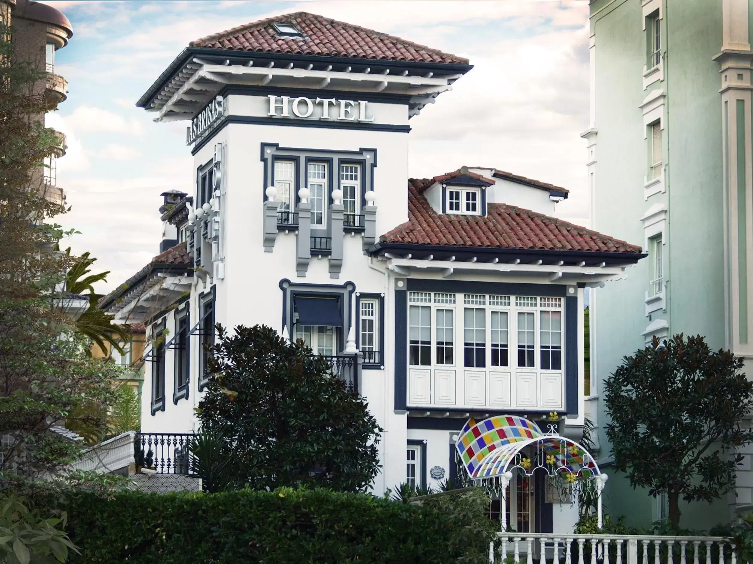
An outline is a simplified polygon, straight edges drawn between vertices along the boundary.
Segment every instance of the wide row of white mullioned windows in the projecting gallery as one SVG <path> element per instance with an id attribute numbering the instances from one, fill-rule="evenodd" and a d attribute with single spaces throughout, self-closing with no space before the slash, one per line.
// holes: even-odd
<path id="1" fill-rule="evenodd" d="M 411 291 L 408 302 L 412 366 L 562 371 L 561 297 Z"/>

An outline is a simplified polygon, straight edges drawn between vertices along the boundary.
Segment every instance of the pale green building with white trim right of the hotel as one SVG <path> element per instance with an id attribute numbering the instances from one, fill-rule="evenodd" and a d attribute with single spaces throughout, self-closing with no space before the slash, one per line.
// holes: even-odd
<path id="1" fill-rule="evenodd" d="M 591 299 L 591 417 L 605 511 L 648 526 L 666 499 L 609 470 L 602 381 L 659 338 L 705 335 L 753 362 L 753 144 L 750 0 L 590 3 L 588 172 L 593 227 L 642 244 L 647 259 Z M 753 371 L 748 371 L 753 376 Z M 736 495 L 681 502 L 682 526 L 708 529 L 751 509 L 753 445 Z M 602 465 L 603 464 L 603 465 Z"/>

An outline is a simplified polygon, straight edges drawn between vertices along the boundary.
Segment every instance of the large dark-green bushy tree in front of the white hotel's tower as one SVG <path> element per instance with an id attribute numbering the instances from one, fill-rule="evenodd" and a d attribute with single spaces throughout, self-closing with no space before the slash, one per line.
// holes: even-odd
<path id="1" fill-rule="evenodd" d="M 267 326 L 217 326 L 202 429 L 221 435 L 236 481 L 365 490 L 377 475 L 382 429 L 358 393 L 303 341 Z"/>

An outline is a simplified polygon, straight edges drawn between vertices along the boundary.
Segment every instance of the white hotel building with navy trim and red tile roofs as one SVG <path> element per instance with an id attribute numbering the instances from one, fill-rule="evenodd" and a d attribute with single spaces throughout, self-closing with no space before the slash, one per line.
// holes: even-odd
<path id="1" fill-rule="evenodd" d="M 557 186 L 481 167 L 408 180 L 410 117 L 470 70 L 303 12 L 194 41 L 166 68 L 138 105 L 190 123 L 196 186 L 163 195 L 160 255 L 102 302 L 157 343 L 139 436 L 197 430 L 215 323 L 332 357 L 384 429 L 375 493 L 452 477 L 469 417 L 556 411 L 581 436 L 584 288 L 644 255 L 553 218 Z M 572 530 L 543 478 L 511 489 L 517 530 Z"/>

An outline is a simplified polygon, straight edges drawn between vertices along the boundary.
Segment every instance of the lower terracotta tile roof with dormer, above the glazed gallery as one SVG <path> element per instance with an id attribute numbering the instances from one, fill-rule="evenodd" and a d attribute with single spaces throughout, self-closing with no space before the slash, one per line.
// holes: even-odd
<path id="1" fill-rule="evenodd" d="M 489 204 L 486 217 L 437 214 L 420 193 L 434 179 L 408 180 L 408 220 L 382 235 L 383 243 L 640 253 L 637 245 L 517 208 Z"/>

